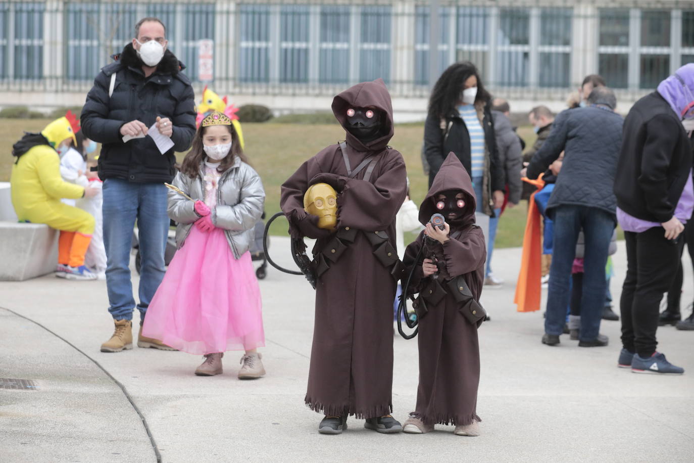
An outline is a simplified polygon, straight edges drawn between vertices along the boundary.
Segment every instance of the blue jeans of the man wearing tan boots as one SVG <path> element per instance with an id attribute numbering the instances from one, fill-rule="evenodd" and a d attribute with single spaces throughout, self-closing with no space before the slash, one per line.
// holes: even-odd
<path id="1" fill-rule="evenodd" d="M 133 228 L 139 230 L 139 304 L 144 320 L 154 293 L 164 278 L 164 250 L 169 234 L 167 187 L 163 183 L 130 183 L 107 178 L 103 183 L 103 244 L 106 249 L 108 312 L 115 320 L 132 320 L 135 310 L 130 281 Z"/>

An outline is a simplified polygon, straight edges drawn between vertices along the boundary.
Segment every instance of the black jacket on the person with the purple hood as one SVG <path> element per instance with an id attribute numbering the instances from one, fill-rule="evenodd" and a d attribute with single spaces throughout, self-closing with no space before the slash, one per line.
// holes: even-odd
<path id="1" fill-rule="evenodd" d="M 614 181 L 619 208 L 637 219 L 672 219 L 691 168 L 691 141 L 668 102 L 658 92 L 636 101 L 624 122 Z"/>

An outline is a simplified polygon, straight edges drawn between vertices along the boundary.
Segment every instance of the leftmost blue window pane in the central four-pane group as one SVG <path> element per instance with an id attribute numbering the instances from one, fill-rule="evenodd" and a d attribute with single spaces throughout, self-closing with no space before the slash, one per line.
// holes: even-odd
<path id="1" fill-rule="evenodd" d="M 239 79 L 242 82 L 270 80 L 270 10 L 268 5 L 239 7 L 241 44 Z"/>

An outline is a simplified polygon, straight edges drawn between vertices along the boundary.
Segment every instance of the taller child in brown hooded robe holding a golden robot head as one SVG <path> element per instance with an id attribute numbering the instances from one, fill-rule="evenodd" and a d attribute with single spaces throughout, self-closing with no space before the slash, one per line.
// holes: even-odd
<path id="1" fill-rule="evenodd" d="M 323 149 L 282 185 L 281 208 L 294 237 L 317 238 L 318 283 L 305 402 L 325 419 L 319 432 L 339 434 L 348 415 L 366 428 L 400 432 L 389 416 L 393 381 L 393 298 L 402 264 L 395 218 L 405 200 L 403 156 L 390 146 L 393 109 L 381 79 L 335 96 L 332 111 L 346 142 Z M 318 228 L 304 210 L 316 183 L 338 193 L 337 228 Z"/>

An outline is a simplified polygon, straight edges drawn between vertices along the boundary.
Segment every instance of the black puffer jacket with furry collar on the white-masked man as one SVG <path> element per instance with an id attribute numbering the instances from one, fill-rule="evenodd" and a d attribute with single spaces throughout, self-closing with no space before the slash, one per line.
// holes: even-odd
<path id="1" fill-rule="evenodd" d="M 181 72 L 185 66 L 167 50 L 157 70 L 146 78 L 132 44 L 113 59 L 115 62 L 103 67 L 94 79 L 81 117 L 85 135 L 102 144 L 99 178 L 171 182 L 175 174 L 174 152 L 186 151 L 196 130 L 193 87 Z M 116 83 L 109 98 L 114 72 Z M 137 119 L 151 127 L 158 116 L 171 119 L 174 148 L 162 155 L 149 136 L 123 142 L 120 130 L 124 124 Z"/>

